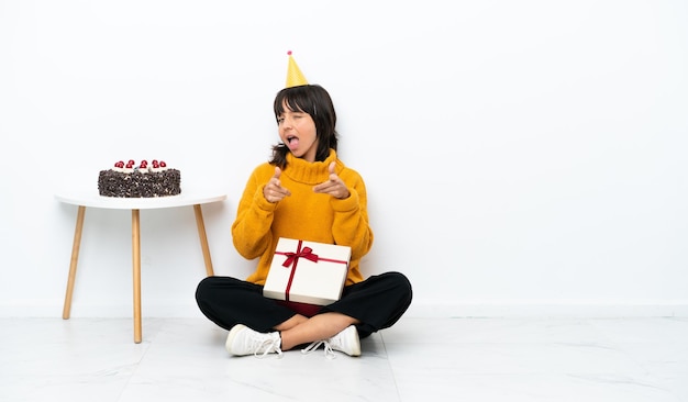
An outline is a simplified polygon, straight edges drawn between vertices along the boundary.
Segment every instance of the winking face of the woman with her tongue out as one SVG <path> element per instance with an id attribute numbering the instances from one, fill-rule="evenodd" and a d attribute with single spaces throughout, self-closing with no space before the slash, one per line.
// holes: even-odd
<path id="1" fill-rule="evenodd" d="M 277 127 L 282 143 L 297 158 L 315 161 L 318 135 L 310 114 L 290 110 L 282 103 L 284 113 L 277 116 Z"/>

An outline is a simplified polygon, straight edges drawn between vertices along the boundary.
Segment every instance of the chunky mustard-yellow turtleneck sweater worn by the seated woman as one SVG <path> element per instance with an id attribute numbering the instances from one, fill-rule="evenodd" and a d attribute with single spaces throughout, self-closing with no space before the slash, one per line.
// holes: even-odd
<path id="1" fill-rule="evenodd" d="M 347 199 L 313 192 L 314 186 L 329 180 L 332 161 L 351 192 Z M 265 284 L 277 241 L 288 237 L 351 247 L 346 284 L 362 281 L 358 264 L 373 246 L 373 231 L 368 226 L 366 187 L 360 175 L 344 166 L 334 149 L 330 149 L 326 160 L 315 163 L 288 154 L 287 167 L 279 179 L 291 196 L 270 203 L 263 196 L 263 188 L 274 175 L 275 166 L 267 163 L 254 169 L 232 225 L 238 254 L 246 259 L 260 257 L 256 270 L 246 280 Z"/>

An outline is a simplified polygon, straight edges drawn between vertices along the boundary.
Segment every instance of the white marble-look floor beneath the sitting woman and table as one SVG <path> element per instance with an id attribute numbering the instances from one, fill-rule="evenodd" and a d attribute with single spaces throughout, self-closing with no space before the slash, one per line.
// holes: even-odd
<path id="1" fill-rule="evenodd" d="M 230 357 L 204 319 L 0 319 L 0 401 L 684 401 L 688 319 L 402 319 L 363 356 Z"/>

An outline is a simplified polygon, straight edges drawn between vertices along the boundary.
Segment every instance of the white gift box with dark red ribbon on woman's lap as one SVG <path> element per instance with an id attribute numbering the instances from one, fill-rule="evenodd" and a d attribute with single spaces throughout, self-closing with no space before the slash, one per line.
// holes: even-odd
<path id="1" fill-rule="evenodd" d="M 263 295 L 328 305 L 342 295 L 351 247 L 280 237 Z"/>

